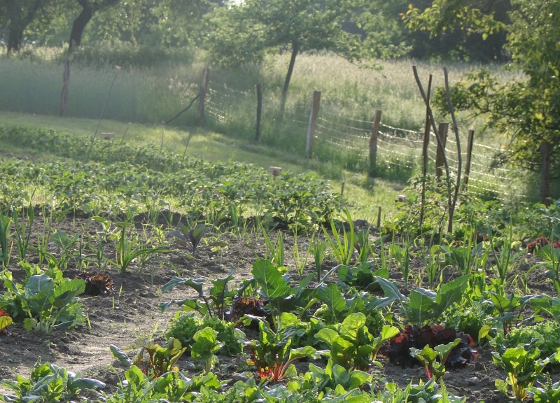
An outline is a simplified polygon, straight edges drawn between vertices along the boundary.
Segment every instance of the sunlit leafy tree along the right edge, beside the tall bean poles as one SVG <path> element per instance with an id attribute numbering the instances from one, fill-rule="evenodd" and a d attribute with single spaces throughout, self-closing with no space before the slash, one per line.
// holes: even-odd
<path id="1" fill-rule="evenodd" d="M 434 1 L 423 12 L 411 8 L 408 17 L 411 27 L 434 35 L 457 23 L 486 35 L 507 31 L 505 50 L 524 76 L 499 84 L 488 71 L 473 71 L 454 87 L 453 100 L 457 110 L 486 114 L 488 126 L 507 136 L 497 164 L 513 162 L 540 173 L 540 196 L 547 203 L 551 179 L 560 178 L 560 3 L 511 0 L 511 6 L 507 25 L 454 0 Z"/>

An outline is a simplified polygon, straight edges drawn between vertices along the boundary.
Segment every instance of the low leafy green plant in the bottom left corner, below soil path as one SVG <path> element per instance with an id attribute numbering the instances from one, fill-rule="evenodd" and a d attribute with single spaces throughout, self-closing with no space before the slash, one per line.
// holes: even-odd
<path id="1" fill-rule="evenodd" d="M 60 402 L 78 396 L 81 390 L 105 387 L 97 379 L 83 378 L 79 372 L 73 374 L 49 362 L 41 364 L 40 360 L 31 369 L 29 378 L 18 374 L 15 381 L 4 379 L 0 384 L 13 392 L 13 395 L 1 394 L 3 402 Z"/>

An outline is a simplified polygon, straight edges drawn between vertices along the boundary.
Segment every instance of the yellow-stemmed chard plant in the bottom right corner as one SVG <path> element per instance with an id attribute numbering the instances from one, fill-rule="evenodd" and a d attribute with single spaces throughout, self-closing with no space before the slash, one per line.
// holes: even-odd
<path id="1" fill-rule="evenodd" d="M 507 395 L 507 387 L 510 386 L 516 399 L 524 400 L 527 397 L 527 388 L 532 386 L 538 374 L 545 369 L 551 360 L 558 360 L 560 356 L 556 353 L 542 360 L 538 348 L 525 348 L 517 346 L 507 348 L 503 353 L 494 351 L 493 362 L 503 368 L 507 374 L 506 381 L 496 379 L 496 388 Z"/>

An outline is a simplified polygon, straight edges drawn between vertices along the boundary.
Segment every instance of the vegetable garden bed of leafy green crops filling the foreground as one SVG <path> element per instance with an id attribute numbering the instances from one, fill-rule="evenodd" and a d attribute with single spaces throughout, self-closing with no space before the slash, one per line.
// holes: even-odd
<path id="1" fill-rule="evenodd" d="M 169 251 L 195 259 L 199 244 L 227 248 L 221 230 L 249 236 L 250 225 L 265 245 L 235 285 L 233 273 L 204 279 L 179 271 L 162 285 L 164 295 L 179 286 L 190 292 L 160 306 L 181 306 L 165 341 L 134 357 L 111 346 L 127 368 L 114 392 L 88 392 L 102 382 L 44 363 L 29 378 L 2 381 L 15 400 L 464 402 L 446 390 L 444 374 L 488 345 L 504 369 L 496 388 L 517 399 L 558 400 L 560 384 L 540 376 L 560 368 L 559 202 L 511 214 L 507 206 L 463 201 L 456 233 L 443 236 L 434 185 L 424 227 L 412 193 L 402 213 L 372 236 L 348 211 L 337 215 L 339 200 L 312 176 L 274 180 L 250 165 L 21 128 L 1 129 L 0 139 L 54 156 L 50 163 L 1 160 L 1 175 L 10 180 L 0 193 L 0 328 L 20 322 L 50 333 L 81 326 L 87 318 L 80 296 L 92 283 L 95 292 L 111 293 L 115 271 L 134 276 L 167 264 Z M 77 234 L 58 230 L 57 220 L 68 215 L 85 215 L 91 224 Z M 291 232 L 269 232 L 274 223 Z M 297 240 L 302 233 L 307 245 Z M 99 274 L 70 278 L 71 271 Z M 533 292 L 537 274 L 544 294 Z M 200 363 L 189 372 L 195 375 L 177 365 L 188 354 Z M 218 354 L 247 358 L 236 371 L 244 381 L 218 377 Z M 302 370 L 296 360 L 314 362 Z M 428 381 L 386 382 L 381 362 L 422 365 Z"/>

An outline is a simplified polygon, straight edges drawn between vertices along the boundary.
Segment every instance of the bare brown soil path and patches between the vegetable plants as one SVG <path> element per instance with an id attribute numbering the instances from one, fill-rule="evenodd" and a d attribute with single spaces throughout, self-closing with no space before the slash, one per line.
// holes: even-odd
<path id="1" fill-rule="evenodd" d="M 34 223 L 34 234 L 43 231 L 41 218 Z M 141 227 L 141 223 L 137 223 Z M 90 218 L 66 218 L 55 225 L 58 231 L 64 231 L 72 236 L 84 232 L 94 233 L 98 228 Z M 228 246 L 219 250 L 211 250 L 206 246 L 209 241 L 220 239 L 226 241 Z M 293 264 L 291 250 L 293 237 L 285 236 L 286 261 Z M 298 243 L 307 241 L 298 237 Z M 31 244 L 36 244 L 31 237 Z M 52 253 L 56 255 L 57 248 L 51 246 Z M 114 250 L 111 242 L 104 244 L 106 256 L 113 258 Z M 15 248 L 14 248 L 15 249 Z M 52 334 L 37 334 L 26 332 L 21 323 L 8 327 L 6 334 L 0 334 L 0 379 L 14 379 L 16 374 L 29 375 L 31 368 L 38 359 L 42 362 L 51 362 L 59 367 L 65 367 L 73 372 L 81 372 L 89 377 L 104 381 L 106 390 L 114 388 L 123 368 L 113 358 L 109 345 L 115 344 L 119 348 L 134 354 L 134 346 L 139 339 L 153 340 L 162 344 L 165 341 L 165 332 L 169 329 L 174 312 L 179 307 L 172 306 L 167 311 L 161 312 L 158 308 L 162 302 L 170 299 L 184 299 L 192 293 L 186 288 L 175 288 L 172 292 L 162 294 L 160 289 L 169 279 L 178 274 L 182 277 L 213 278 L 226 276 L 232 267 L 235 267 L 235 283 L 239 283 L 251 276 L 252 264 L 257 257 L 265 253 L 262 235 L 207 232 L 201 242 L 196 257 L 188 257 L 186 248 L 172 244 L 172 253 L 167 253 L 158 259 L 152 260 L 147 267 L 139 269 L 137 262 L 132 264 L 126 274 L 118 274 L 115 267 L 108 267 L 106 273 L 114 281 L 114 289 L 110 295 L 83 296 L 81 302 L 87 313 L 89 323 L 78 329 Z M 37 262 L 38 257 L 31 251 L 28 252 L 31 262 Z M 13 251 L 10 271 L 15 278 L 21 278 L 22 273 L 18 267 L 18 257 Z M 309 264 L 311 270 L 312 262 Z M 418 271 L 423 262 L 414 260 L 412 271 Z M 334 267 L 336 262 L 326 261 L 324 269 Z M 552 292 L 550 283 L 542 274 L 533 272 L 534 280 L 530 287 L 533 292 Z M 75 262 L 71 262 L 67 271 L 68 276 L 78 274 Z M 295 271 L 293 272 L 295 276 Z M 402 281 L 400 272 L 392 272 L 391 278 Z M 414 286 L 414 284 L 412 284 Z M 0 285 L 0 292 L 3 292 Z M 505 379 L 503 370 L 496 367 L 491 360 L 491 347 L 477 346 L 477 362 L 472 362 L 461 369 L 449 370 L 444 376 L 447 388 L 456 395 L 468 397 L 468 402 L 508 402 L 494 387 L 496 379 Z M 243 364 L 248 356 L 241 358 L 221 357 L 222 368 L 226 364 Z M 188 357 L 181 358 L 179 367 L 188 367 Z M 408 383 L 418 383 L 419 379 L 427 381 L 426 373 L 422 367 L 402 368 L 392 365 L 388 360 L 381 359 L 383 366 L 374 369 L 379 376 L 387 381 L 395 381 L 404 387 Z M 235 367 L 235 365 L 233 366 Z M 245 366 L 246 367 L 246 366 Z M 298 365 L 298 370 L 306 370 L 307 364 Z M 223 369 L 220 369 L 223 371 Z M 230 369 L 230 371 L 235 369 Z M 255 376 L 256 373 L 255 373 Z M 554 377 L 557 377 L 553 375 Z M 223 374 L 224 378 L 235 379 L 235 374 Z M 0 386 L 0 391 L 2 387 Z"/>

